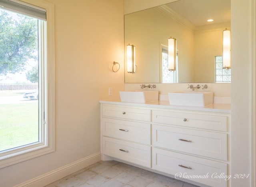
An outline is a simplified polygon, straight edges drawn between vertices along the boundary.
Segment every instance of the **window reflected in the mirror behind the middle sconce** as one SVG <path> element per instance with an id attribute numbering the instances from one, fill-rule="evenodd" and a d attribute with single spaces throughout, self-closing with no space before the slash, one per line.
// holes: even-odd
<path id="1" fill-rule="evenodd" d="M 176 54 L 176 70 L 168 70 L 168 46 L 161 45 L 162 56 L 162 83 L 176 83 L 178 82 L 178 52 Z"/>

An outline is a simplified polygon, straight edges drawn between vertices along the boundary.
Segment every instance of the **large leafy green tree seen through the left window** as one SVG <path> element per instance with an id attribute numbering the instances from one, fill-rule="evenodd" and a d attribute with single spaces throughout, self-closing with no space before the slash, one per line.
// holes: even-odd
<path id="1" fill-rule="evenodd" d="M 23 71 L 28 60 L 37 58 L 37 19 L 15 17 L 0 10 L 0 75 Z"/>

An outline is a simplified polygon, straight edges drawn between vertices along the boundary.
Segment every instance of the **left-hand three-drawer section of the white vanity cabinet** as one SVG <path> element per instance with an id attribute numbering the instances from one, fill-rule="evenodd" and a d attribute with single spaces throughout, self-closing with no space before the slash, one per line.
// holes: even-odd
<path id="1" fill-rule="evenodd" d="M 151 167 L 151 110 L 102 105 L 102 154 Z"/>

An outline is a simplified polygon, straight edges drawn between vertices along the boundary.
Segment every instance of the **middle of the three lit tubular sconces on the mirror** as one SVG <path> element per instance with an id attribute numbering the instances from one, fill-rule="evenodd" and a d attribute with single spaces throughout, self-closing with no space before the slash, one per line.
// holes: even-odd
<path id="1" fill-rule="evenodd" d="M 176 39 L 168 38 L 168 70 L 175 71 L 176 62 Z"/>

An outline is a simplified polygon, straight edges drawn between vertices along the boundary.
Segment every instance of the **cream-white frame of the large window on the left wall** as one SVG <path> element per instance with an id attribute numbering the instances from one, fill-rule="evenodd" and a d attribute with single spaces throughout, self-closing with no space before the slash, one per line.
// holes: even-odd
<path id="1" fill-rule="evenodd" d="M 41 111 L 39 120 L 42 123 L 42 128 L 39 129 L 40 139 L 39 142 L 32 143 L 30 145 L 24 145 L 17 149 L 2 151 L 0 153 L 0 168 L 13 165 L 34 157 L 38 157 L 47 153 L 55 151 L 55 53 L 54 53 L 54 5 L 44 0 L 22 0 L 23 2 L 32 4 L 44 8 L 46 10 L 46 22 L 43 27 L 46 27 L 46 38 L 42 38 L 42 42 L 45 45 L 41 45 L 42 49 L 39 49 L 43 55 L 40 60 L 46 63 L 42 63 L 42 74 L 39 74 L 43 79 L 43 84 L 39 83 L 39 97 L 40 99 L 38 107 Z M 44 28 L 39 28 L 39 32 L 42 32 Z M 47 47 L 46 47 L 47 45 Z M 40 46 L 40 45 L 39 45 Z M 47 54 L 47 55 L 46 55 Z M 44 76 L 46 75 L 46 76 Z"/>

